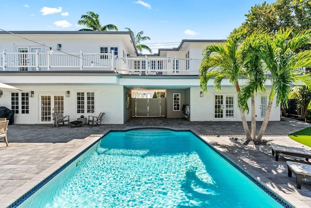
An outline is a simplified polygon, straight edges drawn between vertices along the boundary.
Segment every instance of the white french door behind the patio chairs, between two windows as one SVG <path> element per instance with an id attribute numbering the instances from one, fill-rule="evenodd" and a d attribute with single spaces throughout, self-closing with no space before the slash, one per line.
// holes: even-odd
<path id="1" fill-rule="evenodd" d="M 64 95 L 40 95 L 40 123 L 51 123 L 51 114 L 64 113 Z"/>

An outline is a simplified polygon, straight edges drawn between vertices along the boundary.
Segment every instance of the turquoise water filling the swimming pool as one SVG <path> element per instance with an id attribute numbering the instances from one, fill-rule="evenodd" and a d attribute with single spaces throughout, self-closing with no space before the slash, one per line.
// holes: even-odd
<path id="1" fill-rule="evenodd" d="M 109 132 L 21 208 L 278 208 L 191 132 Z"/>

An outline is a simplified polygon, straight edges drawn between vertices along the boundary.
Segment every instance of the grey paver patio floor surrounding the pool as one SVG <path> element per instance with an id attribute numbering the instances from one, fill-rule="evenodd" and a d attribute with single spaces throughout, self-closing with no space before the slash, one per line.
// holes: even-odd
<path id="1" fill-rule="evenodd" d="M 259 130 L 261 122 L 257 122 Z M 287 135 L 311 126 L 285 118 L 269 122 L 264 139 L 291 147 L 302 145 Z M 131 118 L 125 124 L 70 128 L 52 125 L 10 125 L 9 146 L 0 141 L 0 208 L 7 207 L 44 177 L 57 170 L 110 129 L 133 127 L 167 127 L 190 129 L 207 139 L 234 161 L 294 207 L 311 207 L 311 183 L 296 189 L 295 176 L 287 176 L 286 160 L 304 162 L 302 158 L 281 156 L 275 161 L 270 146 L 243 145 L 233 137 L 243 137 L 242 122 L 190 122 L 186 119 Z"/>

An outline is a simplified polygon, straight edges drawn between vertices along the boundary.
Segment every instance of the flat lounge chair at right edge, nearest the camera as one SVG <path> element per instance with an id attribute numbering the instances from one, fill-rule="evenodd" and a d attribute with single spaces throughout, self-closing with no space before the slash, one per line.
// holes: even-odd
<path id="1" fill-rule="evenodd" d="M 288 177 L 292 177 L 292 173 L 296 175 L 296 187 L 297 189 L 301 189 L 302 179 L 310 179 L 311 178 L 311 165 L 297 163 L 292 161 L 286 161 Z"/>

